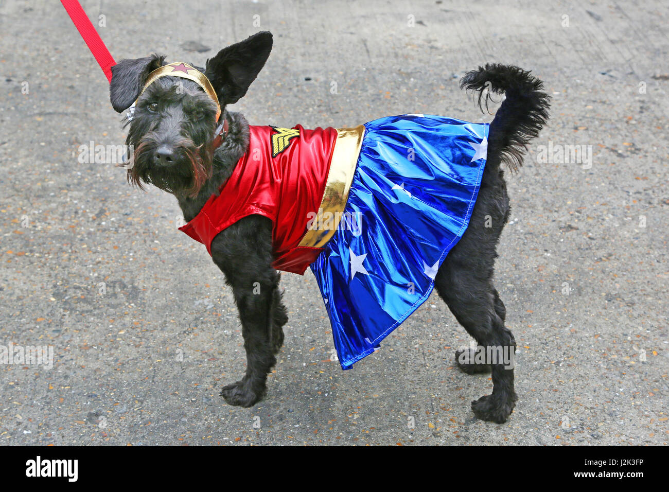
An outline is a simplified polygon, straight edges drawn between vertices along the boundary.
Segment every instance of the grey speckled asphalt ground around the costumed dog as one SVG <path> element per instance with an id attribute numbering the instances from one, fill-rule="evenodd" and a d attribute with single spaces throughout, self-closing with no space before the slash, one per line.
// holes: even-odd
<path id="1" fill-rule="evenodd" d="M 282 280 L 290 321 L 268 396 L 227 406 L 219 390 L 246 360 L 222 274 L 176 229 L 171 195 L 80 163 L 80 145 L 124 131 L 60 3 L 0 1 L 0 345 L 54 353 L 51 369 L 0 364 L 0 445 L 667 444 L 666 2 L 83 5 L 116 60 L 203 64 L 272 31 L 266 68 L 231 107 L 254 125 L 490 121 L 459 90 L 464 72 L 504 62 L 543 79 L 551 120 L 508 176 L 496 267 L 519 401 L 506 424 L 474 419 L 492 382 L 454 367 L 470 339 L 436 294 L 343 372 L 308 272 Z M 545 162 L 549 145 L 583 145 L 591 166 Z"/>

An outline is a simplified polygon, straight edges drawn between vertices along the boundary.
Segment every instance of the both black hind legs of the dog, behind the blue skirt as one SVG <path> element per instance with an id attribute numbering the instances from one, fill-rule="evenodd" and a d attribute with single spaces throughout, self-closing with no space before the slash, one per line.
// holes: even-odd
<path id="1" fill-rule="evenodd" d="M 498 161 L 498 156 L 488 157 Z M 506 308 L 492 285 L 496 245 L 509 213 L 502 175 L 497 165 L 486 166 L 469 226 L 435 278 L 437 292 L 478 345 L 475 351 L 456 351 L 456 364 L 467 374 L 492 371 L 492 395 L 472 402 L 472 410 L 478 418 L 498 423 L 506 421 L 516 401 L 516 343 L 504 326 Z"/>

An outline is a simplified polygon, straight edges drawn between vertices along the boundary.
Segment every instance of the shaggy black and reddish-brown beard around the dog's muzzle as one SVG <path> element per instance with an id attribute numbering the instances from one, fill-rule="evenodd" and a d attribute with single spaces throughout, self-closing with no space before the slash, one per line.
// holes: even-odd
<path id="1" fill-rule="evenodd" d="M 153 137 L 145 136 L 134 147 L 128 167 L 128 183 L 142 190 L 143 183 L 147 183 L 174 195 L 197 196 L 211 177 L 211 143 L 195 145 L 191 139 L 174 143 L 177 162 L 169 167 L 157 167 L 153 163 L 156 145 Z"/>

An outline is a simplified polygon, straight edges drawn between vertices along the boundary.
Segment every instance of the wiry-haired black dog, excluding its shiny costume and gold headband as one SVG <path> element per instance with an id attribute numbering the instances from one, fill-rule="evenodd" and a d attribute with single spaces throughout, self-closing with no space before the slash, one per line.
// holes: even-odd
<path id="1" fill-rule="evenodd" d="M 226 112 L 225 105 L 246 94 L 271 49 L 272 35 L 257 33 L 221 50 L 205 68 L 195 67 L 215 90 L 220 122 L 227 120 L 227 135 L 219 147 L 217 104 L 201 84 L 164 76 L 145 88 L 149 74 L 165 65 L 163 56 L 122 60 L 114 66 L 112 106 L 122 112 L 136 100 L 132 120 L 126 119 L 126 143 L 134 148 L 128 181 L 173 193 L 185 220 L 193 219 L 248 151 L 248 122 L 240 113 Z M 505 93 L 506 99 L 490 125 L 487 162 L 470 224 L 438 270 L 435 284 L 479 346 L 506 347 L 513 353 L 504 303 L 492 284 L 496 244 L 510 210 L 502 163 L 512 170 L 522 164 L 527 143 L 547 120 L 549 96 L 529 72 L 498 64 L 469 72 L 461 86 L 478 92 L 479 106 L 488 102 L 489 92 Z M 288 321 L 278 289 L 280 274 L 272 268 L 272 221 L 251 215 L 235 222 L 215 236 L 211 256 L 233 289 L 248 359 L 244 378 L 225 386 L 221 396 L 232 405 L 252 406 L 266 392 L 266 376 L 276 363 Z M 260 289 L 254 292 L 258 282 Z M 516 401 L 513 370 L 463 351 L 456 352 L 456 362 L 468 374 L 492 370 L 492 394 L 472 402 L 472 409 L 483 420 L 505 422 Z"/>

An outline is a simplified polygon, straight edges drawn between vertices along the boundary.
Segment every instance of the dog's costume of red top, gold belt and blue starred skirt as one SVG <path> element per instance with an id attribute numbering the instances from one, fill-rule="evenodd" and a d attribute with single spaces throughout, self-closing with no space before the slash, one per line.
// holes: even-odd
<path id="1" fill-rule="evenodd" d="M 489 125 L 423 114 L 349 129 L 250 126 L 231 177 L 180 229 L 207 246 L 245 216 L 274 224 L 278 270 L 316 276 L 342 369 L 417 309 L 464 234 Z"/>

